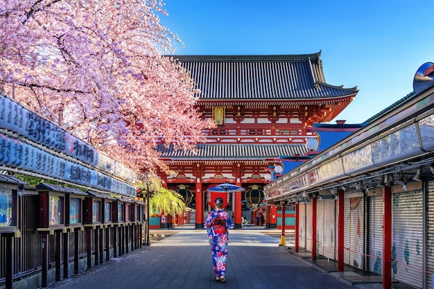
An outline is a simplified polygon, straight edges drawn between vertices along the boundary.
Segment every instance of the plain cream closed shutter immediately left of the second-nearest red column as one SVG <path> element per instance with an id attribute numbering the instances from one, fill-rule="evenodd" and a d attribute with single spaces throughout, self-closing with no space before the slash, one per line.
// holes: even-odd
<path id="1" fill-rule="evenodd" d="M 336 214 L 335 200 L 324 200 L 324 236 L 322 238 L 324 254 L 327 258 L 336 260 Z"/>

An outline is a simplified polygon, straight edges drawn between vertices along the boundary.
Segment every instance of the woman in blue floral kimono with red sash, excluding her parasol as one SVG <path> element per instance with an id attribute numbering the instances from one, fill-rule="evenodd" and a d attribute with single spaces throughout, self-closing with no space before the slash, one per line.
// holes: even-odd
<path id="1" fill-rule="evenodd" d="M 226 282 L 226 259 L 227 259 L 227 240 L 229 239 L 228 229 L 232 222 L 223 210 L 223 198 L 216 198 L 214 201 L 215 209 L 209 213 L 205 221 L 205 227 L 211 244 L 211 254 L 214 274 L 216 281 Z"/>

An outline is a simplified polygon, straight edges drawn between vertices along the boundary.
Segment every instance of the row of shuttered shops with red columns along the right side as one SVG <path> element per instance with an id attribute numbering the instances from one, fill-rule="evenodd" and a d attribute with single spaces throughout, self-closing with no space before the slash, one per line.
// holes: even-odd
<path id="1" fill-rule="evenodd" d="M 434 87 L 432 64 L 415 91 L 265 188 L 295 207 L 295 250 L 432 288 Z M 421 87 L 420 79 L 424 84 Z"/>

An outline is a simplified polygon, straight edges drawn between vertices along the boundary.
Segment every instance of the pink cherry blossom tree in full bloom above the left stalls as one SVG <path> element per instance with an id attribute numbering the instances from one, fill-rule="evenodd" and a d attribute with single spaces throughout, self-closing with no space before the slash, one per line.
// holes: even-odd
<path id="1" fill-rule="evenodd" d="M 189 150 L 211 124 L 159 23 L 159 0 L 0 1 L 0 90 L 137 170 L 157 141 Z"/>

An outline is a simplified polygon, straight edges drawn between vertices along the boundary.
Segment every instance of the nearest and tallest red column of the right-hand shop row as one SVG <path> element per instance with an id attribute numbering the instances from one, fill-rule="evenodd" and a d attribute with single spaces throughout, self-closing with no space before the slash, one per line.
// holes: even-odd
<path id="1" fill-rule="evenodd" d="M 383 288 L 392 288 L 392 187 L 383 188 Z"/>

